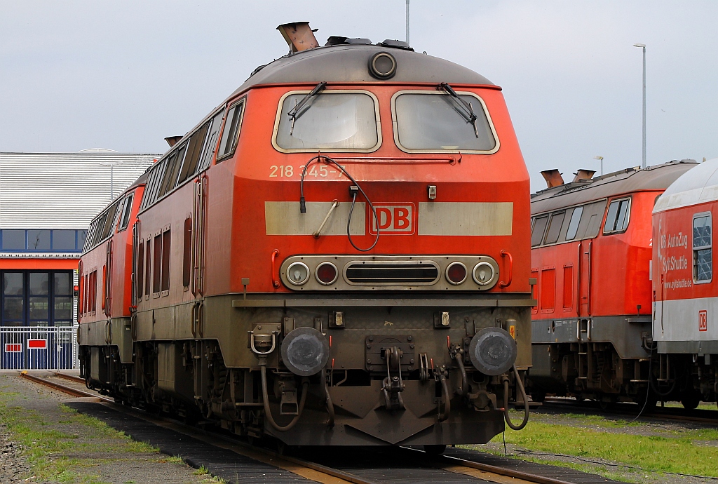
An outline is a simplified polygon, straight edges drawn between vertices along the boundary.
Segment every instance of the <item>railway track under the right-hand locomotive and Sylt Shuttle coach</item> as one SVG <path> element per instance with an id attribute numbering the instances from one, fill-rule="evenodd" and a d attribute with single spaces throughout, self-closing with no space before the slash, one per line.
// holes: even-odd
<path id="1" fill-rule="evenodd" d="M 642 405 L 630 403 L 615 403 L 602 408 L 597 401 L 576 401 L 547 396 L 544 400 L 543 410 L 561 409 L 561 411 L 581 411 L 586 414 L 611 414 L 625 416 L 632 419 L 638 414 Z M 542 411 L 541 409 L 535 411 Z M 695 422 L 698 424 L 718 425 L 718 410 L 685 410 L 673 407 L 656 407 L 644 410 L 641 418 L 666 419 L 678 422 Z"/>

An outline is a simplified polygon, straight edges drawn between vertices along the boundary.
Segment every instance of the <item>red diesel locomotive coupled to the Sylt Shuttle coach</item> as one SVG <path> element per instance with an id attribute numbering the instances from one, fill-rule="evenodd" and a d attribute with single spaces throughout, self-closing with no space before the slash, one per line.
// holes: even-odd
<path id="1" fill-rule="evenodd" d="M 651 210 L 693 160 L 630 168 L 565 183 L 531 197 L 531 395 L 574 394 L 643 403 L 651 350 Z M 655 402 L 654 402 L 655 403 Z"/>

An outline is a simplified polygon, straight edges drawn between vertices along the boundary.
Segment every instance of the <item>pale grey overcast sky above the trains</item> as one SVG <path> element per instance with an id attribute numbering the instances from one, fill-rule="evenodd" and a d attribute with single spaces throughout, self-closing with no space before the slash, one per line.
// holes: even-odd
<path id="1" fill-rule="evenodd" d="M 0 152 L 162 153 L 257 65 L 276 26 L 404 39 L 404 0 L 0 0 Z M 503 87 L 531 173 L 718 157 L 718 2 L 411 0 L 411 45 Z"/>

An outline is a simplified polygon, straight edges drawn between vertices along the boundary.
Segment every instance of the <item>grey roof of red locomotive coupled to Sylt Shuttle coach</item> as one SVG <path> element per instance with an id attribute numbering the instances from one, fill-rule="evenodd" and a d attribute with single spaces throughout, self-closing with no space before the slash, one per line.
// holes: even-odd
<path id="1" fill-rule="evenodd" d="M 656 164 L 653 167 L 633 167 L 604 174 L 591 180 L 565 183 L 546 188 L 531 195 L 531 213 L 544 213 L 592 200 L 645 190 L 666 190 L 681 174 L 696 167 L 690 159 Z M 718 169 L 718 165 L 716 166 Z"/>

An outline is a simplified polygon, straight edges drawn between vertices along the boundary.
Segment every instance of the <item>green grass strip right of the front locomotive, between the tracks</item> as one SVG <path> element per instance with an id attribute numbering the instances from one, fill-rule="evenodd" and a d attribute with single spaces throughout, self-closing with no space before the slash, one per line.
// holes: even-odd
<path id="1" fill-rule="evenodd" d="M 517 419 L 518 412 L 515 415 L 514 419 Z M 694 444 L 694 440 L 718 441 L 717 430 L 671 431 L 669 432 L 670 436 L 645 436 L 616 432 L 615 429 L 626 427 L 626 424 L 621 421 L 606 420 L 600 416 L 590 415 L 572 415 L 572 418 L 601 428 L 591 429 L 550 424 L 533 419 L 529 420 L 526 428 L 521 431 L 507 429 L 506 442 L 533 452 L 570 455 L 587 460 L 605 459 L 630 467 L 640 467 L 641 470 L 647 472 L 718 477 L 716 447 Z M 631 427 L 635 427 L 635 425 L 632 424 Z M 606 430 L 603 430 L 604 428 Z M 501 435 L 494 437 L 493 442 L 503 442 Z M 502 454 L 503 452 L 495 453 Z M 574 468 L 584 465 L 583 463 L 569 465 L 566 462 L 546 460 L 541 458 L 541 455 L 518 455 L 517 457 L 534 462 L 568 465 L 568 467 Z M 603 465 L 592 465 L 590 462 L 586 462 L 585 466 L 592 467 L 592 472 L 603 469 L 601 474 L 607 475 L 606 467 Z M 616 475 L 610 477 L 618 478 Z"/>

